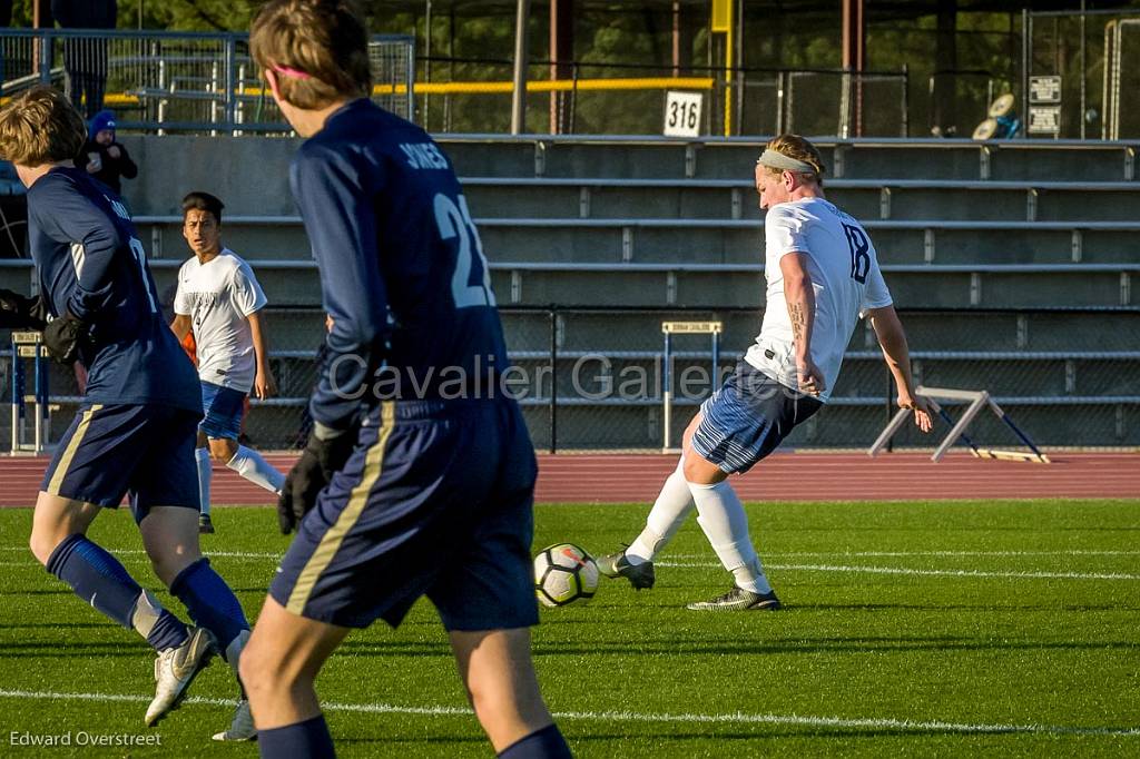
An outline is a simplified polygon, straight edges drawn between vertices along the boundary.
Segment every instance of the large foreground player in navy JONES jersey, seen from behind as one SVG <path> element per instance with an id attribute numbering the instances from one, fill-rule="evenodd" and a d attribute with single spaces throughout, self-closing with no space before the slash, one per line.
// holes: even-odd
<path id="1" fill-rule="evenodd" d="M 333 756 L 317 672 L 351 628 L 426 596 L 499 756 L 568 757 L 530 660 L 534 447 L 496 386 L 503 330 L 450 162 L 368 99 L 350 2 L 274 0 L 250 44 L 308 138 L 291 180 L 332 318 L 279 507 L 296 538 L 242 659 L 261 754 Z"/>

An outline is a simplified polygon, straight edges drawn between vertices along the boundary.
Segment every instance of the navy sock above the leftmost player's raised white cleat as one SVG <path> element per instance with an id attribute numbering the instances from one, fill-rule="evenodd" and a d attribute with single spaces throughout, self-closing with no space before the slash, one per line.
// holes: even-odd
<path id="1" fill-rule="evenodd" d="M 68 536 L 56 546 L 47 569 L 85 603 L 137 630 L 156 651 L 180 646 L 188 636 L 186 626 L 144 593 L 117 558 L 85 536 Z"/>

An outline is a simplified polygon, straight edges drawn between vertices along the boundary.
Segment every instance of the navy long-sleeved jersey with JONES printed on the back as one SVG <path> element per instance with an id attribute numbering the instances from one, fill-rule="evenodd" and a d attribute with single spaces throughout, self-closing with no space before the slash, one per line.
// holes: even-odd
<path id="1" fill-rule="evenodd" d="M 290 180 L 333 319 L 312 417 L 345 429 L 361 399 L 498 393 L 507 364 L 490 271 L 427 133 L 353 100 L 301 146 Z"/>

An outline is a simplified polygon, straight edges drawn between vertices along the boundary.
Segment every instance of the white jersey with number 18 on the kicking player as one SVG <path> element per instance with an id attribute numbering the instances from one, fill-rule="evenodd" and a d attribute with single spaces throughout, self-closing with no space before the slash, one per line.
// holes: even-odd
<path id="1" fill-rule="evenodd" d="M 798 390 L 780 259 L 788 253 L 806 253 L 815 289 L 812 360 L 826 382 L 826 390 L 820 394 L 820 400 L 826 401 L 862 311 L 891 303 L 874 245 L 860 222 L 823 198 L 772 206 L 764 220 L 764 238 L 767 307 L 760 334 L 744 360 L 776 382 Z"/>

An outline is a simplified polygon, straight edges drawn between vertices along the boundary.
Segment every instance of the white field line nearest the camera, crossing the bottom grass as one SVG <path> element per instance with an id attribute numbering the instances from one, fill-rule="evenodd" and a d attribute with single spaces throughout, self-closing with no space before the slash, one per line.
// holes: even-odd
<path id="1" fill-rule="evenodd" d="M 0 689 L 2 699 L 26 699 L 42 701 L 101 701 L 148 703 L 149 699 L 141 695 L 124 695 L 114 693 L 54 693 L 50 691 L 8 691 Z M 205 699 L 190 696 L 189 704 L 210 707 L 231 707 L 234 700 Z M 348 711 L 369 715 L 416 715 L 429 717 L 467 717 L 470 709 L 463 707 L 400 707 L 388 703 L 325 703 L 326 711 Z M 725 715 L 698 713 L 654 713 L 640 711 L 560 711 L 554 712 L 555 719 L 602 721 L 602 723 L 719 723 L 739 725 L 803 725 L 807 727 L 837 727 L 864 729 L 893 729 L 911 732 L 944 733 L 1036 733 L 1050 735 L 1106 735 L 1116 737 L 1140 736 L 1140 728 L 1121 727 L 1074 727 L 1068 725 L 986 725 L 967 723 L 945 723 L 942 720 L 911 720 L 890 718 L 847 718 L 847 717 L 813 717 L 809 715 L 750 715 L 732 712 Z"/>

